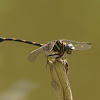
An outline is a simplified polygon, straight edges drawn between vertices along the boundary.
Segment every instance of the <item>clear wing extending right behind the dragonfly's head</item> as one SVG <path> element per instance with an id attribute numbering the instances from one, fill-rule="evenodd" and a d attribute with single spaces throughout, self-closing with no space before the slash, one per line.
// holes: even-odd
<path id="1" fill-rule="evenodd" d="M 63 42 L 65 42 L 66 44 L 73 44 L 73 46 L 75 47 L 75 50 L 86 50 L 91 48 L 91 43 L 89 42 L 77 42 L 77 41 L 71 41 L 71 40 L 66 40 L 66 39 L 62 39 Z"/>

